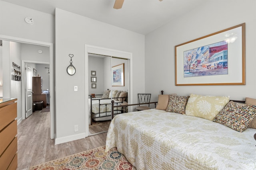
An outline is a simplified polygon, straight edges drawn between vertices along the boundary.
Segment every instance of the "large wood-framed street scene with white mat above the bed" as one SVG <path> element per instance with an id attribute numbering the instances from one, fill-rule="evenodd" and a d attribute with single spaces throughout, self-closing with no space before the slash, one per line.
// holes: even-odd
<path id="1" fill-rule="evenodd" d="M 245 85 L 245 23 L 175 46 L 176 86 Z"/>

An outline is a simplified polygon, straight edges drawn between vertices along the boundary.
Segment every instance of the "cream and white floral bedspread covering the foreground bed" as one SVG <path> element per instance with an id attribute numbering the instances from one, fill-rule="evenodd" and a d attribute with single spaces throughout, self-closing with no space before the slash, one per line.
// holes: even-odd
<path id="1" fill-rule="evenodd" d="M 116 115 L 106 151 L 117 147 L 137 170 L 255 170 L 256 129 L 150 109 Z"/>

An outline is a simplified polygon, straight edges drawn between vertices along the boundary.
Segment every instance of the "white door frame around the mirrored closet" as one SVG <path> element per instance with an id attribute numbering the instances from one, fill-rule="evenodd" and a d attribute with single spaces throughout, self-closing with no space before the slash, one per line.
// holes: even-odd
<path id="1" fill-rule="evenodd" d="M 132 100 L 132 53 L 126 52 L 126 51 L 119 51 L 115 49 L 108 49 L 104 47 L 97 47 L 93 45 L 84 45 L 84 50 L 85 50 L 85 60 L 84 60 L 84 75 L 85 77 L 85 96 L 89 95 L 88 89 L 89 89 L 89 82 L 88 82 L 88 75 L 89 75 L 89 70 L 88 70 L 88 53 L 93 53 L 93 54 L 98 54 L 98 55 L 107 55 L 111 57 L 120 57 L 124 59 L 128 59 L 128 81 L 130 82 L 130 86 L 128 88 L 128 103 L 130 103 Z M 89 134 L 89 106 L 88 106 L 88 100 L 85 100 L 85 136 L 88 137 Z"/>

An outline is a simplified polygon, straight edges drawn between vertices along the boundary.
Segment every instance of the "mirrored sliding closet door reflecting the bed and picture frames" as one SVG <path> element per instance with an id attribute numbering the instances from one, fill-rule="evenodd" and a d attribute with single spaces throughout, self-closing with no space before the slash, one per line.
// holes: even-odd
<path id="1" fill-rule="evenodd" d="M 111 122 L 111 101 L 114 114 L 124 113 L 129 89 L 128 59 L 88 54 L 89 135 L 108 131 Z"/>

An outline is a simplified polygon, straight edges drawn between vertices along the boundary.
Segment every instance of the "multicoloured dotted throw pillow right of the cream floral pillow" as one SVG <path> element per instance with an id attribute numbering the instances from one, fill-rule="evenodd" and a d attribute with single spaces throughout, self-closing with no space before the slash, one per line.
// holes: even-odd
<path id="1" fill-rule="evenodd" d="M 255 115 L 256 106 L 230 101 L 213 121 L 243 132 Z"/>

